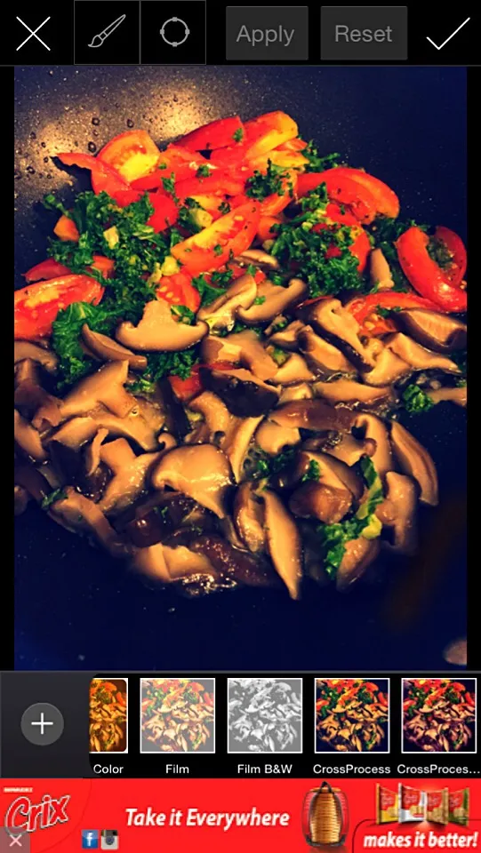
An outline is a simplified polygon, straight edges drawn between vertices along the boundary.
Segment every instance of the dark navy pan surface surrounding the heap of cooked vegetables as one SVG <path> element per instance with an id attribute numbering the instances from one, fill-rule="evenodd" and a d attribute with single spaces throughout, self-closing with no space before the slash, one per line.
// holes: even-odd
<path id="1" fill-rule="evenodd" d="M 236 112 L 284 109 L 321 151 L 392 185 L 405 218 L 465 236 L 465 86 L 461 68 L 19 68 L 16 286 L 51 232 L 38 201 L 87 187 L 44 158 L 101 147 L 133 125 L 169 141 Z M 16 522 L 16 666 L 442 668 L 446 643 L 466 631 L 464 413 L 444 404 L 406 423 L 435 459 L 441 504 L 420 514 L 419 556 L 384 561 L 381 581 L 345 595 L 309 586 L 300 603 L 249 589 L 187 601 L 29 508 Z"/>

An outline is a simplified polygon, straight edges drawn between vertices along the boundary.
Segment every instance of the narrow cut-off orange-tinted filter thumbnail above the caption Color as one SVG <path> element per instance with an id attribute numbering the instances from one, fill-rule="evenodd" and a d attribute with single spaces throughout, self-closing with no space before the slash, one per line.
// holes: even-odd
<path id="1" fill-rule="evenodd" d="M 127 752 L 127 679 L 92 679 L 89 736 L 91 753 Z"/>

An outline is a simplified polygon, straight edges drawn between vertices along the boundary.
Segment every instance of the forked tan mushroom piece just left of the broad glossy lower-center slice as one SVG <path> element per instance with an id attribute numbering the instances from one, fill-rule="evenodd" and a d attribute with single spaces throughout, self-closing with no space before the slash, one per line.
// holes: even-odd
<path id="1" fill-rule="evenodd" d="M 113 474 L 98 506 L 102 513 L 118 514 L 136 500 L 148 485 L 148 475 L 165 450 L 136 456 L 129 442 L 117 438 L 100 447 L 100 461 Z"/>

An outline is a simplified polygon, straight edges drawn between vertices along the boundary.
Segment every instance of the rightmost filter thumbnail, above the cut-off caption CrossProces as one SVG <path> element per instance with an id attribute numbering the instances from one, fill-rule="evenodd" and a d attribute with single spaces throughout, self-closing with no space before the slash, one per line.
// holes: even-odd
<path id="1" fill-rule="evenodd" d="M 403 752 L 476 752 L 476 679 L 403 679 Z"/>

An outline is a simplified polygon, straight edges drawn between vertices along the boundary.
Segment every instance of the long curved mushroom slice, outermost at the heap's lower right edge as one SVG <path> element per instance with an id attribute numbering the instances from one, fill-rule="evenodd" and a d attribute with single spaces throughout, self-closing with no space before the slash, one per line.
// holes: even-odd
<path id="1" fill-rule="evenodd" d="M 397 420 L 391 422 L 391 441 L 401 470 L 419 483 L 422 503 L 437 506 L 437 470 L 428 450 Z"/>

